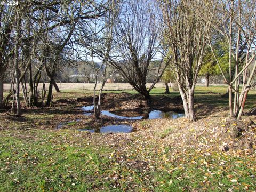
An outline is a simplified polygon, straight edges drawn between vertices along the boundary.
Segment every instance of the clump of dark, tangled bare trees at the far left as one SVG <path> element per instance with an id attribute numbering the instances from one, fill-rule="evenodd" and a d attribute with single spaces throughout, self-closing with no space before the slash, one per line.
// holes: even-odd
<path id="1" fill-rule="evenodd" d="M 50 78 L 49 97 L 47 99 L 49 104 L 52 86 L 55 86 L 58 91 L 58 86 L 54 81 L 55 70 L 57 65 L 60 64 L 60 60 L 64 58 L 62 56 L 66 55 L 66 53 L 63 54 L 63 51 L 66 51 L 67 46 L 73 41 L 72 36 L 76 23 L 78 21 L 86 23 L 86 20 L 100 17 L 103 9 L 101 5 L 93 2 L 58 0 L 46 2 L 23 1 L 19 2 L 17 6 L 13 6 L 13 9 L 8 5 L 1 6 L 0 46 L 3 48 L 0 50 L 1 106 L 3 102 L 3 77 L 6 76 L 6 63 L 9 63 L 9 58 L 14 60 L 15 66 L 17 116 L 20 116 L 21 113 L 20 83 L 26 104 L 37 106 L 37 86 L 43 68 Z M 49 41 L 50 38 L 53 38 L 52 41 Z M 43 45 L 43 43 L 45 44 Z M 12 48 L 10 48 L 11 46 Z M 9 53 L 7 53 L 8 51 Z M 49 61 L 52 61 L 55 65 L 49 65 Z M 39 67 L 33 77 L 32 65 L 34 63 L 39 63 Z M 26 86 L 27 70 L 29 95 Z"/>

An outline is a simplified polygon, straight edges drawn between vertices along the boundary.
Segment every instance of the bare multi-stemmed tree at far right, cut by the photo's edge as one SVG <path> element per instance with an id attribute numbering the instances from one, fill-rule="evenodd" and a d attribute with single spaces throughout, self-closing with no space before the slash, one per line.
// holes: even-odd
<path id="1" fill-rule="evenodd" d="M 241 118 L 249 90 L 256 76 L 256 1 L 214 1 L 215 20 L 212 27 L 226 38 L 229 46 L 229 74 L 225 76 L 219 58 L 210 47 L 229 92 L 229 115 Z M 209 39 L 210 39 L 209 35 Z M 249 67 L 251 70 L 249 71 Z M 233 71 L 233 68 L 235 70 Z M 242 90 L 240 82 L 242 79 Z M 232 92 L 235 92 L 233 99 Z"/>

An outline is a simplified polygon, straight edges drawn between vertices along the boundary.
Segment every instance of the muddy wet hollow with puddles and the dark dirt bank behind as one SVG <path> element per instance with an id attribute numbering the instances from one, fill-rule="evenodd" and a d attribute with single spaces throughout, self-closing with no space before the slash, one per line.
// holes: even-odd
<path id="1" fill-rule="evenodd" d="M 60 102 L 65 103 L 62 100 Z M 77 113 L 87 116 L 87 123 L 84 120 L 77 123 L 76 119 L 73 119 L 73 122 L 63 119 L 63 122 L 57 126 L 57 129 L 74 127 L 77 130 L 89 132 L 129 133 L 132 131 L 132 126 L 130 125 L 134 121 L 142 119 L 176 119 L 185 116 L 179 97 L 155 96 L 151 100 L 145 101 L 139 94 L 133 95 L 125 92 L 119 94 L 103 93 L 100 121 L 95 121 L 93 117 L 93 97 L 67 100 L 66 103 L 68 105 L 77 103 L 80 106 L 77 108 L 80 109 L 77 110 Z M 77 115 L 77 119 L 83 119 L 82 116 Z M 70 126 L 72 124 L 75 126 Z"/>

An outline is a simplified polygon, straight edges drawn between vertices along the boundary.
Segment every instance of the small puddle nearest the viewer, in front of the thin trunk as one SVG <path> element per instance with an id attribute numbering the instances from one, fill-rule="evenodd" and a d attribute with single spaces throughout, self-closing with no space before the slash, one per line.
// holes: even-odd
<path id="1" fill-rule="evenodd" d="M 78 131 L 89 131 L 91 133 L 130 133 L 132 126 L 130 125 L 108 125 L 100 129 L 79 129 Z"/>

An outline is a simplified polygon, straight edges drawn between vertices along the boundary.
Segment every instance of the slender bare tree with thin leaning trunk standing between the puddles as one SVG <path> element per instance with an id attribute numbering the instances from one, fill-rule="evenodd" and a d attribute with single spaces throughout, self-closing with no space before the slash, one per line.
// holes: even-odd
<path id="1" fill-rule="evenodd" d="M 82 38 L 79 39 L 79 45 L 82 46 L 84 54 L 81 55 L 81 52 L 78 53 L 80 54 L 78 56 L 79 59 L 86 61 L 88 59 L 86 55 L 90 55 L 90 59 L 92 60 L 87 63 L 94 69 L 93 105 L 96 119 L 100 118 L 101 113 L 101 94 L 106 83 L 106 71 L 110 51 L 113 50 L 113 28 L 119 13 L 119 1 L 107 1 L 102 4 L 102 7 L 104 7 L 104 14 L 101 18 L 86 23 L 89 33 L 87 30 L 81 31 Z M 101 63 L 95 62 L 94 58 L 101 60 Z M 100 71 L 102 71 L 102 84 L 99 89 L 97 101 L 97 85 L 99 83 Z"/>

